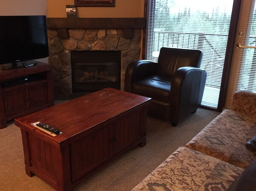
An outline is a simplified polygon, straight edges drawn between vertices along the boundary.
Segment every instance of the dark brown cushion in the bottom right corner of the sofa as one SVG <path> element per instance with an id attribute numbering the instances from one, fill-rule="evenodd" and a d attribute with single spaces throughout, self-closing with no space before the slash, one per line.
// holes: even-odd
<path id="1" fill-rule="evenodd" d="M 256 160 L 250 163 L 227 191 L 256 191 Z"/>

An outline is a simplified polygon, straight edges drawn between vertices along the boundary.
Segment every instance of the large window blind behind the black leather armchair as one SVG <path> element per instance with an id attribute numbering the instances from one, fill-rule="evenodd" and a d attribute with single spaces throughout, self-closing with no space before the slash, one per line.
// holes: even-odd
<path id="1" fill-rule="evenodd" d="M 149 0 L 146 59 L 161 47 L 200 49 L 207 71 L 202 105 L 217 108 L 233 0 Z"/>

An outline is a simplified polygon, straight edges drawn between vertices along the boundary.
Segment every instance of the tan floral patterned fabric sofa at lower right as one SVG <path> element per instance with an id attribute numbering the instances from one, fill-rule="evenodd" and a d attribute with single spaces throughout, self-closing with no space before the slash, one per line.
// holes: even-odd
<path id="1" fill-rule="evenodd" d="M 239 176 L 238 180 L 247 180 L 251 169 L 256 173 L 256 161 L 252 162 L 256 152 L 244 146 L 253 136 L 256 136 L 256 94 L 237 91 L 231 110 L 224 110 L 132 191 L 241 191 L 244 186 L 254 189 L 255 176 L 252 185 L 236 181 Z"/>

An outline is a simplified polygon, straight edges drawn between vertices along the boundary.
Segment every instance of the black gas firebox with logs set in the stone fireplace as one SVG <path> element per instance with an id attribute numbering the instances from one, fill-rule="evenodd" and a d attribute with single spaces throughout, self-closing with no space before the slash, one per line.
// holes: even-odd
<path id="1" fill-rule="evenodd" d="M 120 90 L 121 51 L 72 51 L 72 90 Z"/>

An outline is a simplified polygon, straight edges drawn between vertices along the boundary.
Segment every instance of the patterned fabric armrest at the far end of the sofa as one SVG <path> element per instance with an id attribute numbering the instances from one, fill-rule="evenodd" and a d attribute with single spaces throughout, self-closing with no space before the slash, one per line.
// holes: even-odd
<path id="1" fill-rule="evenodd" d="M 233 94 L 231 109 L 250 117 L 256 117 L 256 93 L 236 91 Z"/>

